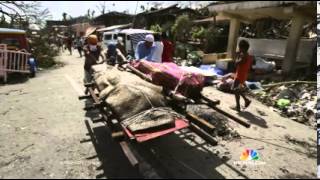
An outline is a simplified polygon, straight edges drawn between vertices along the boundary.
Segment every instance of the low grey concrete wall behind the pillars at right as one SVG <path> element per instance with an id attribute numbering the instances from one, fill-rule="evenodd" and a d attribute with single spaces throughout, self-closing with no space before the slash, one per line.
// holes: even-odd
<path id="1" fill-rule="evenodd" d="M 249 53 L 251 53 L 252 55 L 263 57 L 266 54 L 273 54 L 276 56 L 284 57 L 287 43 L 286 39 L 250 39 L 240 37 L 238 38 L 238 43 L 241 39 L 246 39 L 249 41 Z M 315 45 L 316 39 L 301 39 L 299 52 L 297 55 L 297 62 L 311 62 Z"/>

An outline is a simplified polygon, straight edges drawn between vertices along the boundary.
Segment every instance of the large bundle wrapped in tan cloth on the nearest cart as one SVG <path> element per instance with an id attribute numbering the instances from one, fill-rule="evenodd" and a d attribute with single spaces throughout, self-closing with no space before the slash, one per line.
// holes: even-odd
<path id="1" fill-rule="evenodd" d="M 172 127 L 181 117 L 166 107 L 160 86 L 105 64 L 94 66 L 93 71 L 100 99 L 131 132 Z"/>

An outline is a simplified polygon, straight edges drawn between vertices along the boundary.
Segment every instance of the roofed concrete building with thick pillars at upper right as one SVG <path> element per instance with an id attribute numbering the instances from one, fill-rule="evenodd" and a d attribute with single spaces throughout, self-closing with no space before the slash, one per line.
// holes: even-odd
<path id="1" fill-rule="evenodd" d="M 315 61 L 316 38 L 302 38 L 304 25 L 315 22 L 316 2 L 313 1 L 242 1 L 214 3 L 209 11 L 230 20 L 227 53 L 233 56 L 242 24 L 250 25 L 263 18 L 290 20 L 287 39 L 247 38 L 255 56 L 281 61 L 281 69 L 288 74 Z"/>

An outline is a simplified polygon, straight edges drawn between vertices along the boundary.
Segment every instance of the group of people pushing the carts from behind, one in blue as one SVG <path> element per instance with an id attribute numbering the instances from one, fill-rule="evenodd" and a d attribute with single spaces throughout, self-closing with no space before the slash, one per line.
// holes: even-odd
<path id="1" fill-rule="evenodd" d="M 77 46 L 82 45 L 80 39 L 77 39 Z M 78 46 L 78 47 L 79 47 Z M 117 43 L 110 43 L 106 49 L 102 49 L 100 43 L 98 43 L 98 37 L 96 35 L 89 35 L 85 40 L 85 43 L 78 48 L 80 56 L 83 51 L 85 57 L 85 78 L 84 82 L 88 83 L 92 78 L 91 67 L 98 63 L 106 62 L 110 65 L 116 63 L 123 63 L 127 61 L 127 52 L 123 43 L 123 39 L 118 37 Z M 147 60 L 152 62 L 173 62 L 173 44 L 170 42 L 163 33 L 162 35 L 152 34 L 146 35 L 143 41 L 137 44 L 135 51 L 136 60 Z M 102 60 L 99 60 L 101 57 Z"/>

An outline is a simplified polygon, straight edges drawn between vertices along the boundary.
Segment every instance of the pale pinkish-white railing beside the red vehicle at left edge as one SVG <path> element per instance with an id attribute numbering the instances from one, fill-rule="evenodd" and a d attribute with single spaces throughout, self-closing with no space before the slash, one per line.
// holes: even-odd
<path id="1" fill-rule="evenodd" d="M 6 44 L 0 44 L 0 76 L 4 82 L 10 72 L 29 73 L 29 56 L 30 53 L 8 50 Z"/>

